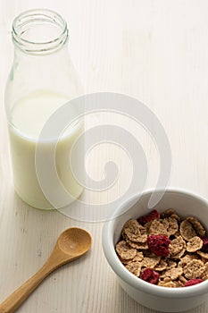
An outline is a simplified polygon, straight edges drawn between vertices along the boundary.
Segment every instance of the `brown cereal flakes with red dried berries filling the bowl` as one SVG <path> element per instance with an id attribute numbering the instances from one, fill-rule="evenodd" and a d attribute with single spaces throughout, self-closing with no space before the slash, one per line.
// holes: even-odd
<path id="1" fill-rule="evenodd" d="M 179 288 L 208 279 L 208 234 L 195 216 L 173 208 L 129 219 L 115 246 L 123 266 L 148 283 Z"/>

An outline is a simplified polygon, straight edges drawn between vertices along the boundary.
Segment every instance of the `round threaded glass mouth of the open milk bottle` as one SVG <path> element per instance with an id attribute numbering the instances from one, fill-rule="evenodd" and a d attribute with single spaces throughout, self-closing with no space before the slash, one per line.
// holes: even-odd
<path id="1" fill-rule="evenodd" d="M 17 47 L 27 53 L 50 53 L 67 41 L 67 23 L 52 10 L 29 10 L 14 19 L 12 39 Z"/>

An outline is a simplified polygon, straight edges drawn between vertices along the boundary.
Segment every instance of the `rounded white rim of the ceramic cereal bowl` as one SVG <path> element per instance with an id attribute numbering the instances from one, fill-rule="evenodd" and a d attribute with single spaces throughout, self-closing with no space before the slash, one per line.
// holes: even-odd
<path id="1" fill-rule="evenodd" d="M 125 200 L 121 206 L 117 207 L 117 209 L 114 211 L 112 217 L 110 220 L 107 220 L 104 223 L 103 233 L 102 233 L 102 244 L 103 244 L 103 250 L 104 250 L 104 256 L 107 259 L 109 265 L 112 267 L 112 270 L 118 275 L 122 281 L 125 283 L 128 283 L 133 288 L 140 290 L 141 292 L 146 292 L 149 294 L 152 294 L 153 296 L 157 297 L 166 297 L 166 298 L 190 298 L 190 297 L 196 297 L 197 295 L 202 295 L 206 292 L 208 292 L 208 280 L 204 281 L 203 283 L 198 283 L 193 286 L 188 286 L 187 288 L 181 287 L 181 288 L 167 288 L 163 286 L 157 286 L 152 283 L 147 283 L 141 279 L 138 279 L 136 275 L 133 275 L 129 272 L 129 270 L 123 266 L 120 259 L 118 258 L 116 251 L 114 249 L 113 244 L 113 225 L 116 222 L 117 219 L 119 219 L 121 216 L 124 216 L 126 213 L 128 213 L 131 206 L 128 208 L 128 210 L 125 210 L 125 207 L 128 207 L 131 202 L 136 201 L 140 197 L 144 197 L 146 195 L 149 195 L 153 193 L 154 191 L 165 193 L 180 193 L 185 196 L 189 196 L 191 198 L 196 199 L 197 201 L 200 201 L 204 203 L 205 206 L 207 206 L 208 209 L 208 200 L 204 197 L 196 194 L 194 191 L 182 189 L 182 188 L 157 188 L 155 189 L 148 189 L 144 190 L 143 192 L 139 192 L 131 197 L 129 199 Z M 121 214 L 121 212 L 124 210 L 124 213 Z"/>

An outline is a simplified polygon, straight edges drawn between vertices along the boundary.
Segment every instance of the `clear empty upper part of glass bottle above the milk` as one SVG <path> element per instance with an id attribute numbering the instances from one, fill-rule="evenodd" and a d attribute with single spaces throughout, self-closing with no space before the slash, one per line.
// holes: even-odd
<path id="1" fill-rule="evenodd" d="M 22 13 L 13 22 L 12 38 L 14 59 L 6 96 L 10 107 L 34 92 L 54 92 L 67 98 L 82 93 L 61 16 L 49 10 Z"/>

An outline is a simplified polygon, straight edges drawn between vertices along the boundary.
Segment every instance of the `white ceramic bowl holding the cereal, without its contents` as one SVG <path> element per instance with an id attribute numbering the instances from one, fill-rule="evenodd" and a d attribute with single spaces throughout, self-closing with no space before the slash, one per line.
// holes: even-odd
<path id="1" fill-rule="evenodd" d="M 162 191 L 157 190 L 156 192 Z M 208 299 L 208 280 L 183 288 L 157 286 L 131 274 L 116 255 L 114 247 L 120 239 L 123 224 L 129 218 L 143 216 L 154 208 L 161 212 L 172 207 L 179 216 L 196 216 L 204 226 L 208 225 L 208 201 L 202 197 L 186 190 L 169 189 L 164 192 L 162 199 L 155 207 L 147 209 L 152 192 L 152 190 L 147 190 L 141 196 L 137 195 L 129 199 L 121 207 L 118 207 L 113 215 L 115 217 L 112 216 L 104 224 L 104 255 L 117 275 L 121 287 L 138 303 L 163 312 L 181 312 L 193 309 Z"/>

